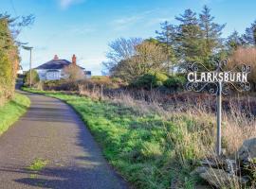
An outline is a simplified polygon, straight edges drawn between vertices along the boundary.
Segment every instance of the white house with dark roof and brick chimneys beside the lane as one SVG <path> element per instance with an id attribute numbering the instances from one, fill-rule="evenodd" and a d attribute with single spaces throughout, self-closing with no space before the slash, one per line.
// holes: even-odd
<path id="1" fill-rule="evenodd" d="M 59 80 L 67 77 L 64 73 L 64 68 L 71 63 L 77 65 L 77 58 L 75 55 L 72 57 L 72 62 L 68 60 L 61 60 L 57 55 L 55 55 L 53 60 L 47 61 L 46 63 L 35 68 L 35 70 L 38 73 L 40 80 Z M 82 69 L 86 76 L 86 72 L 88 71 L 85 71 L 85 69 L 81 66 L 78 67 Z"/>

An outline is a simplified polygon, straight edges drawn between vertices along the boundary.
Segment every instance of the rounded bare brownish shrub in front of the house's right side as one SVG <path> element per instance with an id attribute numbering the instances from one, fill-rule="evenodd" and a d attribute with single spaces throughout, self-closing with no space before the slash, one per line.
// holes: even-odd
<path id="1" fill-rule="evenodd" d="M 67 76 L 67 79 L 70 81 L 82 80 L 85 78 L 82 68 L 74 63 L 64 67 L 64 73 Z"/>

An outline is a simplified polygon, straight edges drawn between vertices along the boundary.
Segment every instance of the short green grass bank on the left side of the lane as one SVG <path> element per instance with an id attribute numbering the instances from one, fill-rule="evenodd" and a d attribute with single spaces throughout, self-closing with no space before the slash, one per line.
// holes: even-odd
<path id="1" fill-rule="evenodd" d="M 23 94 L 15 94 L 14 98 L 0 107 L 0 135 L 15 123 L 29 107 L 30 101 Z"/>

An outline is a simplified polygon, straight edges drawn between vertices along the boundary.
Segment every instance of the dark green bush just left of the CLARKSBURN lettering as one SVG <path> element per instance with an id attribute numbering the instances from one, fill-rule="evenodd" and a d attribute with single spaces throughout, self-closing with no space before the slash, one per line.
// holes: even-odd
<path id="1" fill-rule="evenodd" d="M 183 86 L 186 82 L 186 78 L 184 76 L 174 76 L 169 77 L 165 82 L 164 86 L 173 89 L 174 91 L 183 89 Z"/>

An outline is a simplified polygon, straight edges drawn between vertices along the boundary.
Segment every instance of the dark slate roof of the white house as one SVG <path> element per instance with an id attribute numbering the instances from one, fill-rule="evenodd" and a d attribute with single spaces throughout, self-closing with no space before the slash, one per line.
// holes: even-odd
<path id="1" fill-rule="evenodd" d="M 46 63 L 36 67 L 35 69 L 39 70 L 59 70 L 63 69 L 65 66 L 69 65 L 71 62 L 68 60 L 50 60 L 47 61 Z M 79 66 L 81 69 L 81 66 Z"/>

